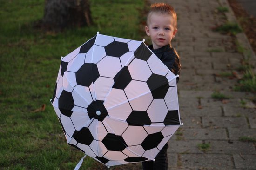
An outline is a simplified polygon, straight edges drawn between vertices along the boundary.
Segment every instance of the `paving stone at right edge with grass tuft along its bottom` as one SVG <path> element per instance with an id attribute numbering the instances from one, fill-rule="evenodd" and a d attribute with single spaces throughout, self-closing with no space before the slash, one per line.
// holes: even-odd
<path id="1" fill-rule="evenodd" d="M 239 137 L 253 137 L 256 138 L 255 129 L 248 128 L 228 128 L 229 139 L 238 140 Z"/>

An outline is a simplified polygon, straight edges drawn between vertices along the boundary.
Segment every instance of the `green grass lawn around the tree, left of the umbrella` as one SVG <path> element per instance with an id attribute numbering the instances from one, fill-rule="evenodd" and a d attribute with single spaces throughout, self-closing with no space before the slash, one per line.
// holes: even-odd
<path id="1" fill-rule="evenodd" d="M 142 40 L 143 1 L 91 0 L 94 26 L 61 33 L 33 28 L 44 0 L 0 0 L 0 169 L 69 170 L 83 153 L 67 145 L 50 98 L 60 57 L 97 31 Z M 32 112 L 41 105 L 42 112 Z M 95 161 L 87 157 L 81 170 Z"/>

